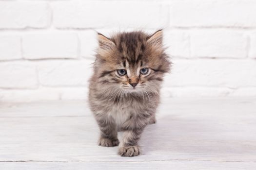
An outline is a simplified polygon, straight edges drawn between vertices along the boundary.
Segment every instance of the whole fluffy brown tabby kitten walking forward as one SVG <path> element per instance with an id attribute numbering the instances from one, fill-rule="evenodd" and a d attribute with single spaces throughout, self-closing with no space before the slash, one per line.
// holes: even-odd
<path id="1" fill-rule="evenodd" d="M 162 30 L 98 34 L 99 47 L 90 79 L 89 103 L 98 122 L 98 145 L 117 146 L 118 154 L 137 156 L 138 140 L 147 124 L 155 123 L 159 89 L 170 70 L 162 46 Z"/>

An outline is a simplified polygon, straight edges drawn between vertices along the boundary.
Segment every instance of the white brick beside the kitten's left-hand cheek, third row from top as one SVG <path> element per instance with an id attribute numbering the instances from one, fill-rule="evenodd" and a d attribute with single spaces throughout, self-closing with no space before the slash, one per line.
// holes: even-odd
<path id="1" fill-rule="evenodd" d="M 44 86 L 84 86 L 92 73 L 93 60 L 39 62 L 39 83 Z"/>

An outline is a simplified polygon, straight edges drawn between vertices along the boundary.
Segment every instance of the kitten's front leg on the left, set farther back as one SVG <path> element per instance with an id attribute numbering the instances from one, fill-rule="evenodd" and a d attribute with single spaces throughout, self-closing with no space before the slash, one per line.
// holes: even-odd
<path id="1" fill-rule="evenodd" d="M 118 131 L 114 120 L 103 116 L 96 117 L 96 120 L 100 129 L 98 145 L 106 147 L 118 146 Z"/>

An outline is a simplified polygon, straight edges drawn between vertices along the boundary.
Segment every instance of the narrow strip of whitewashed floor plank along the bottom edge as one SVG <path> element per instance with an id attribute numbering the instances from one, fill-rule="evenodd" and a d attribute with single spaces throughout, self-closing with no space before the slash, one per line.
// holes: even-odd
<path id="1" fill-rule="evenodd" d="M 255 162 L 154 161 L 154 162 L 12 162 L 1 170 L 255 170 Z"/>

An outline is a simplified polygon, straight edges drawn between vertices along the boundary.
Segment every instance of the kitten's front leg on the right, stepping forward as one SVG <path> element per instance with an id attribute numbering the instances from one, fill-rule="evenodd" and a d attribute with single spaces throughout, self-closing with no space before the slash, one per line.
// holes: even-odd
<path id="1" fill-rule="evenodd" d="M 144 127 L 126 130 L 119 145 L 118 154 L 121 156 L 137 156 L 140 153 L 138 140 Z"/>

